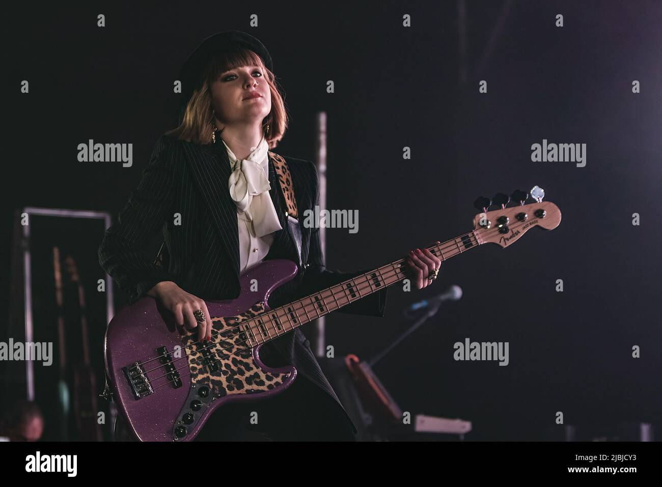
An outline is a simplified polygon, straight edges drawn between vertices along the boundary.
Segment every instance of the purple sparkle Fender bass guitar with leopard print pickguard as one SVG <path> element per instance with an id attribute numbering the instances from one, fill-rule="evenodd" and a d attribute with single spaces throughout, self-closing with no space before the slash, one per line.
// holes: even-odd
<path id="1" fill-rule="evenodd" d="M 476 215 L 473 231 L 427 248 L 447 260 L 483 243 L 505 248 L 532 227 L 551 230 L 560 221 L 559 208 L 542 198 L 529 205 L 502 205 Z M 276 309 L 267 307 L 267 299 L 295 278 L 297 264 L 261 262 L 241 276 L 238 298 L 205 301 L 213 322 L 211 341 L 181 337 L 171 313 L 156 299 L 139 299 L 115 315 L 104 341 L 106 373 L 118 412 L 136 439 L 190 441 L 212 413 L 222 414 L 224 404 L 268 398 L 295 380 L 293 366 L 269 368 L 260 362 L 263 343 L 401 282 L 405 262 L 396 260 Z M 252 280 L 259 283 L 259 294 L 251 291 Z"/>

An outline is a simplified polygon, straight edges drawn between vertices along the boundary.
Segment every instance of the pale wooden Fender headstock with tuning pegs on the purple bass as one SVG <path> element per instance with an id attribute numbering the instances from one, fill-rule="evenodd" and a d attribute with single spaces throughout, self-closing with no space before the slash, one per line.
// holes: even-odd
<path id="1" fill-rule="evenodd" d="M 483 209 L 483 213 L 473 219 L 474 235 L 478 242 L 507 247 L 533 227 L 555 229 L 561 222 L 561 210 L 554 203 L 542 201 L 544 195 L 542 188 L 534 186 L 531 196 L 536 201 L 524 204 L 529 195 L 517 190 L 512 193 L 512 199 L 518 204 L 509 208 L 506 205 L 510 197 L 504 194 L 499 193 L 491 200 L 483 197 L 477 199 L 475 206 Z M 491 205 L 496 205 L 499 209 L 487 211 Z"/>

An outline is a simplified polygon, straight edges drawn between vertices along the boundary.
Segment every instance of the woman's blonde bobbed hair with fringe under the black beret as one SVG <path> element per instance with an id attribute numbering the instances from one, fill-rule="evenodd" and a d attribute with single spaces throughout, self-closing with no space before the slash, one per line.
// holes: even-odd
<path id="1" fill-rule="evenodd" d="M 260 56 L 249 49 L 220 54 L 209 61 L 202 74 L 201 87 L 193 90 L 179 127 L 167 131 L 166 135 L 196 144 L 211 144 L 211 135 L 215 128 L 211 84 L 218 80 L 220 74 L 240 66 L 260 66 L 266 74 L 264 78 L 271 91 L 271 111 L 262 121 L 262 129 L 269 125 L 269 133 L 265 133 L 265 138 L 270 149 L 277 146 L 287 131 L 288 116 L 285 101 L 273 73 L 264 66 Z"/>

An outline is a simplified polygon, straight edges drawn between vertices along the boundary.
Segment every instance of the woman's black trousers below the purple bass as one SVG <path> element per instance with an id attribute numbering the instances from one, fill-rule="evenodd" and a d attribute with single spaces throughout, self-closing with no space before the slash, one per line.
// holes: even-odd
<path id="1" fill-rule="evenodd" d="M 333 398 L 299 374 L 273 398 L 219 407 L 194 441 L 355 441 L 355 437 Z"/>

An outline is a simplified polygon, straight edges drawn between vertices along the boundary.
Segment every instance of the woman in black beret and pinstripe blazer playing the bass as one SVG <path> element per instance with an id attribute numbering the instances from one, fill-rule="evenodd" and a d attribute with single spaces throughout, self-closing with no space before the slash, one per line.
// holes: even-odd
<path id="1" fill-rule="evenodd" d="M 186 100 L 180 125 L 158 140 L 142 181 L 99 248 L 101 266 L 131 303 L 152 296 L 200 340 L 211 335 L 205 299 L 236 298 L 239 277 L 262 260 L 301 264 L 297 277 L 271 294 L 272 308 L 365 272 L 326 270 L 319 229 L 291 227 L 285 199 L 291 195 L 276 174 L 281 159 L 269 152 L 287 129 L 272 70 L 261 42 L 236 30 L 207 38 L 193 52 L 180 76 Z M 302 215 L 319 204 L 316 169 L 283 159 Z M 160 229 L 168 251 L 162 265 L 142 254 Z M 407 264 L 420 289 L 434 280 L 441 262 L 416 249 Z M 381 290 L 339 312 L 383 316 L 386 294 Z M 222 406 L 198 439 L 354 439 L 354 425 L 300 329 L 265 343 L 260 356 L 269 366 L 294 365 L 299 374 L 292 386 L 268 400 Z M 258 425 L 250 421 L 252 412 Z"/>

